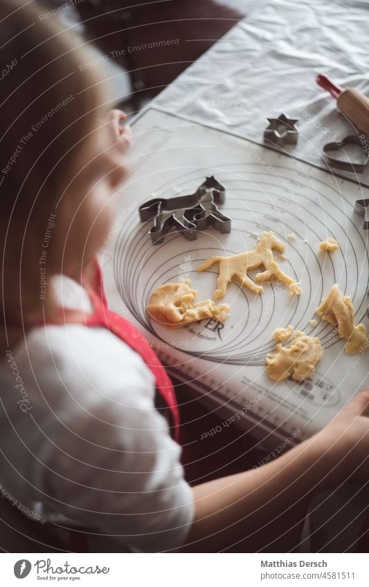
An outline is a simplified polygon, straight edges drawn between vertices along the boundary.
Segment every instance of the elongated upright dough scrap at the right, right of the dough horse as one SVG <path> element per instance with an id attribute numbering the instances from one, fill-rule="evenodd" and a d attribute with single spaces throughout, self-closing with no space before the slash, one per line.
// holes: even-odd
<path id="1" fill-rule="evenodd" d="M 350 296 L 343 295 L 335 283 L 321 305 L 316 308 L 316 314 L 326 322 L 339 327 L 341 338 L 347 339 L 345 351 L 349 355 L 359 353 L 368 348 L 366 327 L 363 324 L 354 324 L 354 306 Z"/>

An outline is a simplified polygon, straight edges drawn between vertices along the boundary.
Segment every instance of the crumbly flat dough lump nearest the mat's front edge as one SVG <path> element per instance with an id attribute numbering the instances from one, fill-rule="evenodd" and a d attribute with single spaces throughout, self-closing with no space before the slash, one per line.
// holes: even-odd
<path id="1" fill-rule="evenodd" d="M 276 331 L 273 335 L 276 338 Z M 298 330 L 290 346 L 278 343 L 276 351 L 268 353 L 267 373 L 271 380 L 277 382 L 289 376 L 295 381 L 303 381 L 314 373 L 315 365 L 322 356 L 321 341 Z"/>

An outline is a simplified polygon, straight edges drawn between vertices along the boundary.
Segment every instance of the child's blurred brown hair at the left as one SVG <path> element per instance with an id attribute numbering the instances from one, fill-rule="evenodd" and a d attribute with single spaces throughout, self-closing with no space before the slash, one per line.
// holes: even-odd
<path id="1" fill-rule="evenodd" d="M 90 56 L 55 17 L 43 18 L 47 11 L 0 0 L 1 316 L 9 324 L 24 308 L 21 292 L 42 295 L 43 251 L 48 275 L 55 269 L 63 192 L 78 174 L 100 105 L 98 78 L 78 68 Z"/>

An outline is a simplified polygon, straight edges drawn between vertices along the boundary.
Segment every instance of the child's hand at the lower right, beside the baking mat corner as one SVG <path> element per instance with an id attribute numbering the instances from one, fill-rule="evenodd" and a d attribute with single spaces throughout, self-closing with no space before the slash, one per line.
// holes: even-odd
<path id="1" fill-rule="evenodd" d="M 324 464 L 325 481 L 369 480 L 369 387 L 361 391 L 310 440 Z M 309 442 L 309 441 L 308 441 Z M 325 483 L 325 482 L 323 482 Z"/>

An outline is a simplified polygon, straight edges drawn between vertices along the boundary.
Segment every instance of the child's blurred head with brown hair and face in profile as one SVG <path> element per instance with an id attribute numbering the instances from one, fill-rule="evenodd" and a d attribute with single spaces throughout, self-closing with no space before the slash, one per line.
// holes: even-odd
<path id="1" fill-rule="evenodd" d="M 124 172 L 101 80 L 79 68 L 91 55 L 55 17 L 43 18 L 47 10 L 0 0 L 3 301 L 24 284 L 39 290 L 42 251 L 49 277 L 96 252 Z"/>

